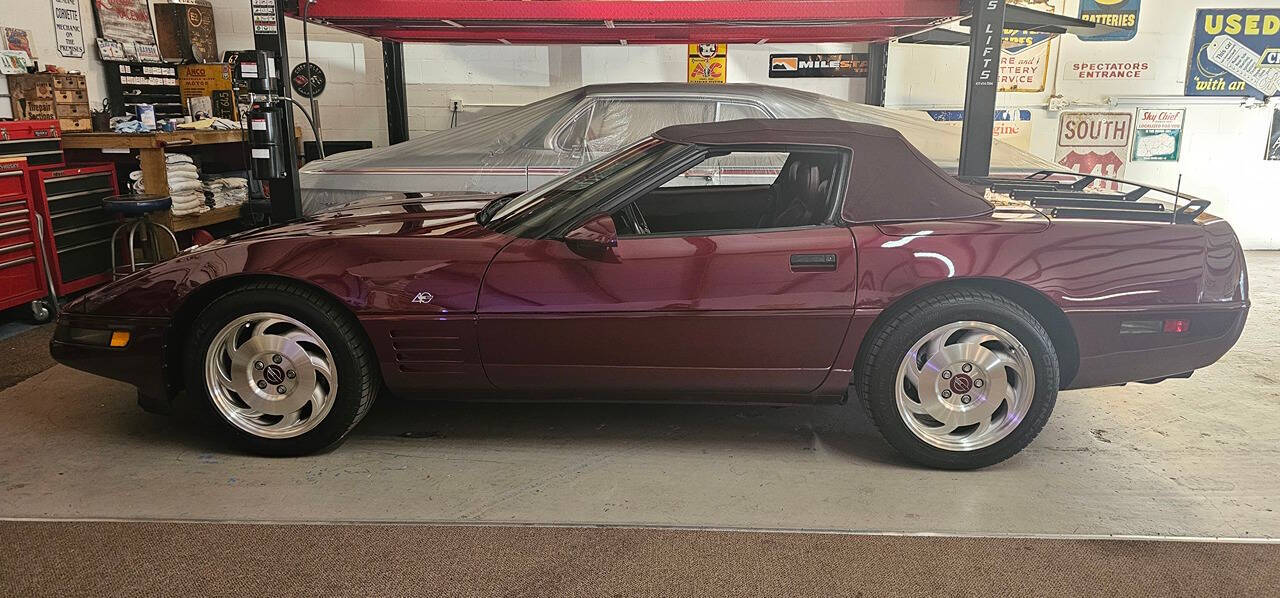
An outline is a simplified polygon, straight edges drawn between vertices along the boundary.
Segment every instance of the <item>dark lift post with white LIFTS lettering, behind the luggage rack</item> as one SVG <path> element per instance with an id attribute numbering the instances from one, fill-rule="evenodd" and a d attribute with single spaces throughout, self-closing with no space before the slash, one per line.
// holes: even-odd
<path id="1" fill-rule="evenodd" d="M 969 73 L 964 93 L 964 124 L 960 133 L 961 177 L 991 174 L 992 128 L 996 124 L 996 92 L 1000 90 L 1001 35 L 1005 31 L 1005 0 L 974 0 L 969 24 Z"/>

